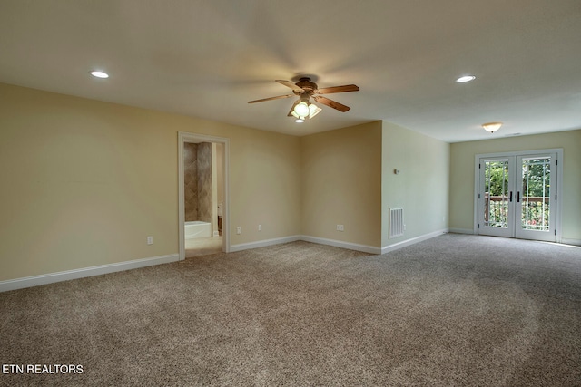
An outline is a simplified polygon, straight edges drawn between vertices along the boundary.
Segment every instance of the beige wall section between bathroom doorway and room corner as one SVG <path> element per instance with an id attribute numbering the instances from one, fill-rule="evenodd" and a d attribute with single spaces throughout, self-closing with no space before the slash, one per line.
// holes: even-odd
<path id="1" fill-rule="evenodd" d="M 300 138 L 250 134 L 230 136 L 231 245 L 300 235 Z"/>

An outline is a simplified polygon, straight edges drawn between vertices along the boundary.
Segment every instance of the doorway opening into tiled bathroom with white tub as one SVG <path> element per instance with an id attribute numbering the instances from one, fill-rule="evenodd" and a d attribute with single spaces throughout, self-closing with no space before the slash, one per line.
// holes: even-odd
<path id="1" fill-rule="evenodd" d="M 178 133 L 180 260 L 228 252 L 229 140 Z"/>

